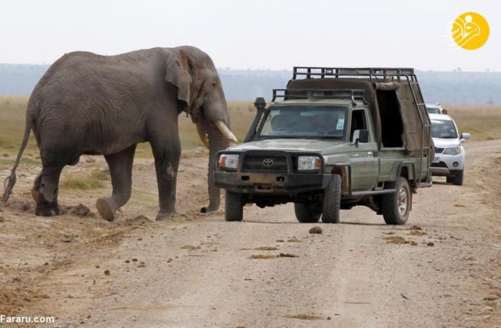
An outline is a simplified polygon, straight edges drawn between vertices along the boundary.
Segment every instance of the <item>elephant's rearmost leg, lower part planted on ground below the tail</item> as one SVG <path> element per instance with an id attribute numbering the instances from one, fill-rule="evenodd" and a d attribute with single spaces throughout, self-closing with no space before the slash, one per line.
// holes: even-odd
<path id="1" fill-rule="evenodd" d="M 63 166 L 43 166 L 40 176 L 35 179 L 38 196 L 35 214 L 43 217 L 62 214 L 58 205 L 59 178 Z"/>

